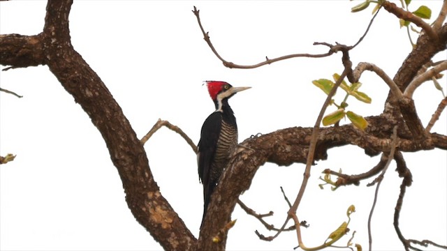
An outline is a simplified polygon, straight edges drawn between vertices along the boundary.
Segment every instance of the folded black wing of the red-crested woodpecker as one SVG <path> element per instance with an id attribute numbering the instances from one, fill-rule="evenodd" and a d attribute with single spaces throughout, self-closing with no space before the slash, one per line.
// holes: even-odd
<path id="1" fill-rule="evenodd" d="M 216 153 L 217 140 L 222 126 L 221 112 L 213 112 L 207 117 L 200 132 L 200 141 L 198 142 L 198 176 L 202 181 L 204 188 L 210 183 L 211 163 Z"/>

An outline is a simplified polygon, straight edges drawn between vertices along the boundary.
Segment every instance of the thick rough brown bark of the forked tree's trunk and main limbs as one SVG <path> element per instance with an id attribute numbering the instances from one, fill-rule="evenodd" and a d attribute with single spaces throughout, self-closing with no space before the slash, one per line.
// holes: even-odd
<path id="1" fill-rule="evenodd" d="M 117 167 L 126 192 L 126 202 L 135 219 L 166 250 L 224 250 L 227 224 L 239 195 L 249 189 L 256 171 L 265 162 L 277 165 L 305 163 L 312 128 L 287 128 L 246 139 L 212 195 L 198 240 L 161 195 L 152 176 L 142 144 L 107 87 L 71 45 L 68 14 L 71 0 L 50 0 L 43 32 L 36 36 L 0 36 L 0 63 L 13 68 L 47 65 L 68 93 L 75 98 L 101 132 L 110 158 Z M 404 89 L 432 56 L 446 48 L 447 24 L 437 31 L 439 40 L 420 36 L 416 48 L 394 77 Z M 400 125 L 397 149 L 447 150 L 446 135 L 425 133 L 413 100 L 388 100 L 393 112 L 367 118 L 362 132 L 353 126 L 321 128 L 315 160 L 325 160 L 327 150 L 356 145 L 367 155 L 389 151 L 394 125 Z M 400 108 L 400 109 L 396 109 Z M 386 109 L 387 110 L 387 109 Z M 418 137 L 414 137 L 417 135 Z M 213 242 L 217 237 L 219 241 Z"/>

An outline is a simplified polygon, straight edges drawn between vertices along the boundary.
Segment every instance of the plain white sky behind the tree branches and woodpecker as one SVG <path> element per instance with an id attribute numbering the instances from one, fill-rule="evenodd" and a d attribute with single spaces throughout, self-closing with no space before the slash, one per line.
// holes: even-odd
<path id="1" fill-rule="evenodd" d="M 70 14 L 75 50 L 98 73 L 119 102 L 138 137 L 157 119 L 179 126 L 198 142 L 200 127 L 214 105 L 203 80 L 223 80 L 252 86 L 230 100 L 237 117 L 240 141 L 258 132 L 291 126 L 312 126 L 325 98 L 312 80 L 341 73 L 341 54 L 326 59 L 291 59 L 255 70 L 224 68 L 203 40 L 196 17 L 200 10 L 205 30 L 221 56 L 240 64 L 293 53 L 324 53 L 314 42 L 353 45 L 372 17 L 370 7 L 350 13 L 359 1 L 75 1 Z M 413 1 L 439 13 L 441 1 Z M 33 35 L 41 32 L 46 1 L 0 3 L 0 33 Z M 375 63 L 395 75 L 411 50 L 397 19 L 381 10 L 365 40 L 351 52 L 354 64 Z M 446 59 L 438 55 L 437 60 Z M 349 98 L 349 109 L 364 116 L 380 114 L 388 93 L 372 73 L 360 79 L 360 91 L 372 97 L 366 105 Z M 73 102 L 47 66 L 0 72 L 0 86 L 24 98 L 0 93 L 0 155 L 17 158 L 0 168 L 1 250 L 160 250 L 133 218 L 124 200 L 122 183 L 108 150 L 87 114 Z M 441 79 L 444 90 L 446 78 Z M 337 100 L 342 99 L 339 91 Z M 420 119 L 426 125 L 442 96 L 427 82 L 416 91 Z M 329 111 L 333 111 L 330 107 Z M 433 132 L 446 135 L 446 112 Z M 161 193 L 193 234 L 203 211 L 196 156 L 184 140 L 163 128 L 147 142 L 149 165 Z M 348 174 L 370 169 L 379 156 L 361 149 L 332 149 L 329 160 L 318 162 L 298 208 L 305 244 L 321 244 L 356 205 L 349 228 L 353 242 L 367 249 L 367 217 L 374 188 L 318 188 L 325 168 Z M 404 153 L 413 173 L 400 226 L 406 238 L 447 243 L 446 151 Z M 274 211 L 268 220 L 280 226 L 286 202 L 280 186 L 294 199 L 305 165 L 265 165 L 241 199 L 258 213 Z M 373 222 L 374 250 L 402 250 L 393 228 L 400 178 L 391 165 L 379 191 Z M 237 224 L 230 230 L 228 250 L 292 250 L 294 232 L 272 242 L 258 240 L 254 230 L 268 232 L 236 206 Z M 345 245 L 351 234 L 338 245 Z"/>

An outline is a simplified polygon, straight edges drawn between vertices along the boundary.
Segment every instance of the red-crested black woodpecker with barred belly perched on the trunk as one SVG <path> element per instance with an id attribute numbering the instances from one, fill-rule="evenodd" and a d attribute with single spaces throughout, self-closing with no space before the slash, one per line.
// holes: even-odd
<path id="1" fill-rule="evenodd" d="M 228 99 L 251 87 L 233 87 L 227 82 L 205 81 L 216 111 L 207 117 L 198 142 L 198 176 L 203 184 L 203 220 L 214 188 L 237 146 L 237 125 Z M 200 226 L 201 228 L 201 226 Z"/>

